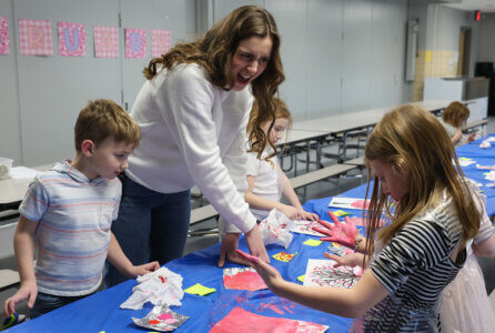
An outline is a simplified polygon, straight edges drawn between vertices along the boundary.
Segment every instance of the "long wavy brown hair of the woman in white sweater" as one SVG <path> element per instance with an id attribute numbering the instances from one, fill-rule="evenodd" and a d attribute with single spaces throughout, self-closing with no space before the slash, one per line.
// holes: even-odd
<path id="1" fill-rule="evenodd" d="M 275 105 L 272 97 L 285 80 L 280 58 L 280 36 L 275 20 L 269 11 L 256 6 L 240 7 L 214 24 L 203 38 L 195 42 L 178 44 L 161 58 L 151 60 L 143 73 L 151 80 L 161 67 L 170 70 L 176 63 L 196 63 L 208 71 L 214 85 L 230 90 L 234 84 L 232 57 L 239 43 L 251 37 L 272 39 L 272 53 L 266 69 L 251 83 L 260 112 L 249 134 L 249 144 L 252 151 L 261 154 L 267 142 L 261 124 L 267 120 L 274 121 Z M 273 143 L 270 144 L 276 151 Z"/>

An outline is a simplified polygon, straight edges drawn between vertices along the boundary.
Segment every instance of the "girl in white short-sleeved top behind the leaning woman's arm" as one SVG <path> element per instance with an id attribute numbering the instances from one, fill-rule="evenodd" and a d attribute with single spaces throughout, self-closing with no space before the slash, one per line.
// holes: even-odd
<path id="1" fill-rule="evenodd" d="M 273 98 L 275 121 L 266 120 L 261 123 L 263 134 L 270 142 L 276 144 L 282 139 L 284 131 L 291 124 L 291 112 L 285 103 Z M 255 102 L 248 123 L 248 133 L 253 132 L 253 123 L 259 117 L 259 108 Z M 250 204 L 251 212 L 259 220 L 263 221 L 273 209 L 283 212 L 291 220 L 317 220 L 317 214 L 305 212 L 292 189 L 291 182 L 280 168 L 276 154 L 266 142 L 264 151 L 259 154 L 250 152 L 248 159 L 248 190 L 244 192 L 244 200 Z M 289 204 L 280 202 L 281 196 L 289 201 Z"/>

